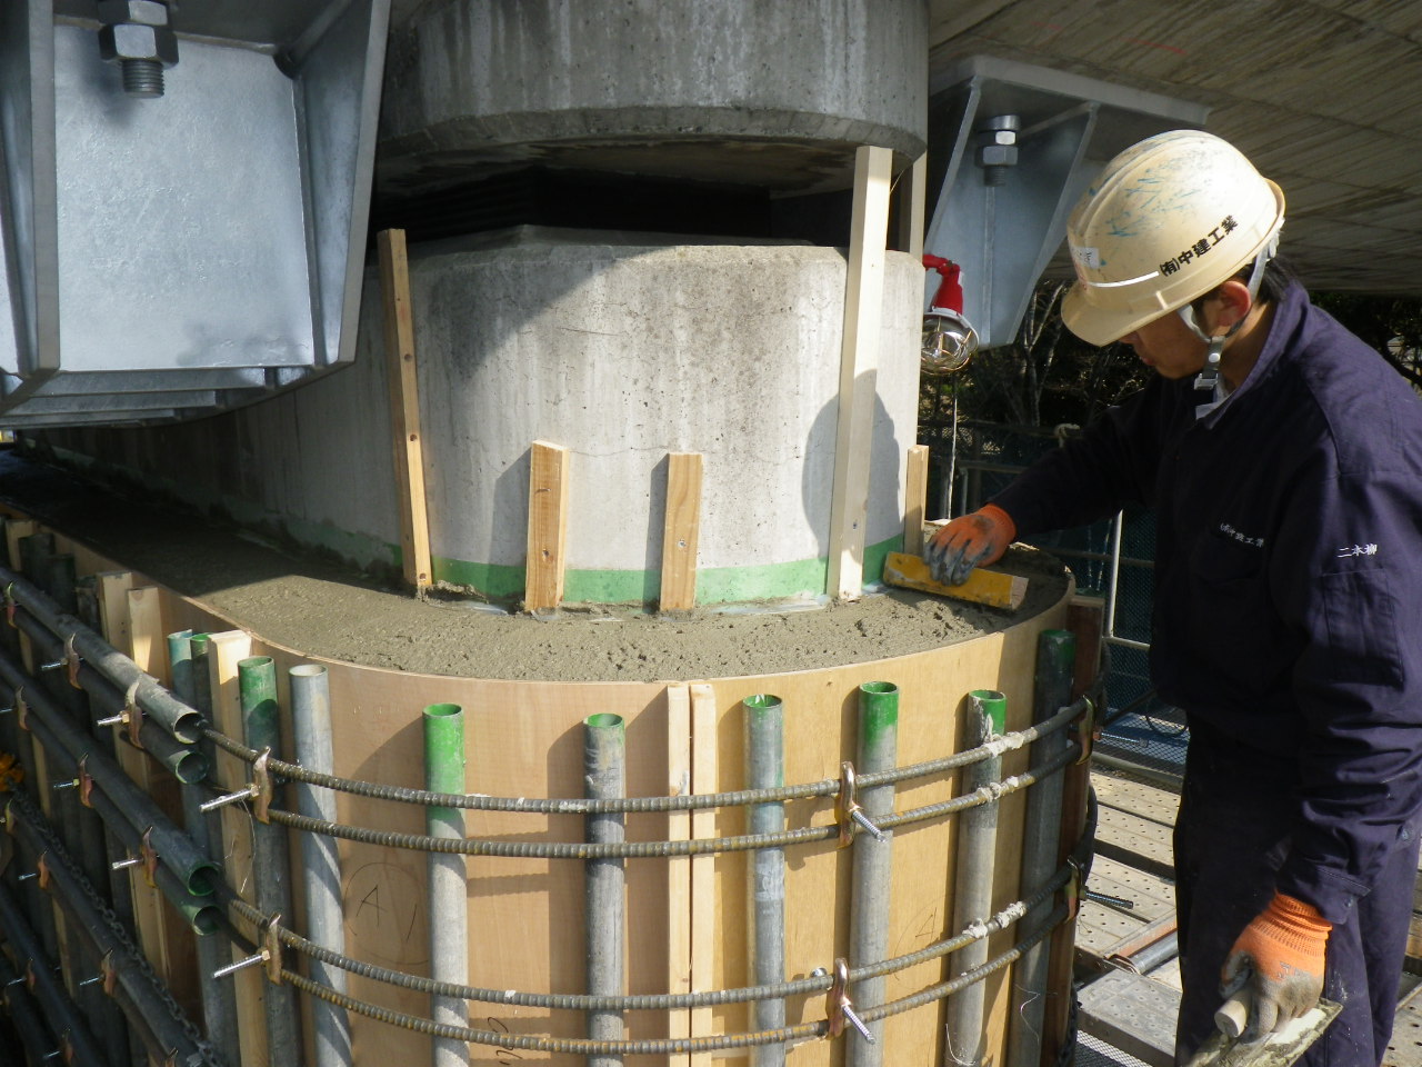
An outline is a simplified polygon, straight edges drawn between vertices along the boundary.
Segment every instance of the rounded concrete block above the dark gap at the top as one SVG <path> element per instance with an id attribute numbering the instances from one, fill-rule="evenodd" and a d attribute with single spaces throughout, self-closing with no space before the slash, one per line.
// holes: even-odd
<path id="1" fill-rule="evenodd" d="M 924 149 L 924 0 L 448 0 L 398 13 L 387 191 L 545 162 L 843 188 Z"/>

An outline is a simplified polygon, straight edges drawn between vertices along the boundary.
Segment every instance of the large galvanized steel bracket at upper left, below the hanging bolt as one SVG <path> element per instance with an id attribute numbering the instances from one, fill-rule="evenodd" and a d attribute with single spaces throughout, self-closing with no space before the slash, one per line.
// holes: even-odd
<path id="1" fill-rule="evenodd" d="M 205 414 L 348 363 L 390 0 L 173 6 L 156 98 L 92 10 L 0 4 L 0 424 Z"/>

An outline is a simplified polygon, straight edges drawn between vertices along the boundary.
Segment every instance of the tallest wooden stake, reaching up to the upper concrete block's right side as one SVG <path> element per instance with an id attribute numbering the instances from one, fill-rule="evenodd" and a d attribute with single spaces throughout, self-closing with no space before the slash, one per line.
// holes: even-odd
<path id="1" fill-rule="evenodd" d="M 862 145 L 855 154 L 855 206 L 839 357 L 839 425 L 829 509 L 829 595 L 859 598 L 865 578 L 869 458 L 879 380 L 884 242 L 889 235 L 889 168 L 893 152 Z"/>

